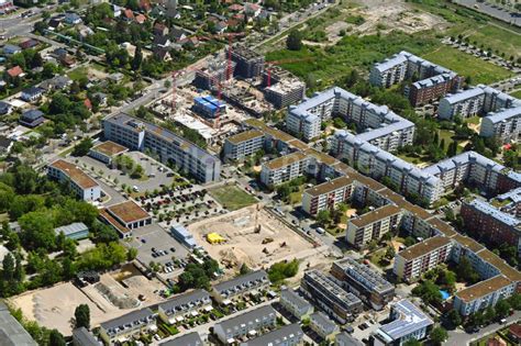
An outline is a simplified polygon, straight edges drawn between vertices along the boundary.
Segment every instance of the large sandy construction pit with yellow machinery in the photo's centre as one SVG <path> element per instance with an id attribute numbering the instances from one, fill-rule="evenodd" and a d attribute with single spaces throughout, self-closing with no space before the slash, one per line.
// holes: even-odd
<path id="1" fill-rule="evenodd" d="M 229 268 L 245 263 L 251 268 L 266 268 L 285 259 L 323 257 L 321 248 L 284 225 L 266 210 L 256 205 L 204 220 L 188 226 L 211 257 Z M 255 232 L 255 220 L 260 231 Z M 218 233 L 226 239 L 223 244 L 210 244 L 207 234 Z M 263 244 L 265 243 L 265 244 Z M 319 255 L 319 256 L 318 256 Z"/>

